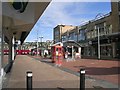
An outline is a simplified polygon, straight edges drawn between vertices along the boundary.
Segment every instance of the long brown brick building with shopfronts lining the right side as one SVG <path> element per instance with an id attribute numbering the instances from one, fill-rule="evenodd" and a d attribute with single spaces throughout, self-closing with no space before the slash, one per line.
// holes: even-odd
<path id="1" fill-rule="evenodd" d="M 55 28 L 54 32 L 57 31 Z M 98 14 L 94 20 L 84 25 L 61 31 L 64 32 L 59 32 L 58 35 L 54 33 L 54 37 L 60 35 L 54 40 L 56 42 L 74 40 L 79 43 L 82 47 L 82 58 L 98 58 L 98 53 L 102 59 L 120 58 L 120 1 L 111 2 L 110 13 Z"/>

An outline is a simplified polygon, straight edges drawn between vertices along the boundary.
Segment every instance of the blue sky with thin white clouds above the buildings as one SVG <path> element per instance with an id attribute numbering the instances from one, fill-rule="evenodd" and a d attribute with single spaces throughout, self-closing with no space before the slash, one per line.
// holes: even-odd
<path id="1" fill-rule="evenodd" d="M 53 40 L 53 28 L 57 25 L 79 26 L 92 20 L 98 13 L 107 14 L 111 11 L 111 3 L 107 2 L 54 2 L 52 1 L 39 18 L 25 42 L 35 42 L 38 37 L 43 41 Z M 40 41 L 40 39 L 39 39 Z"/>

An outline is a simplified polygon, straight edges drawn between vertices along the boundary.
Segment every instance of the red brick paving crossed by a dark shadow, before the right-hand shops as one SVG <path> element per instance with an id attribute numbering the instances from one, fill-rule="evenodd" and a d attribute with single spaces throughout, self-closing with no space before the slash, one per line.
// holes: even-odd
<path id="1" fill-rule="evenodd" d="M 51 59 L 41 59 L 41 57 L 37 56 L 34 56 L 34 58 L 42 61 L 48 60 L 48 62 L 51 62 Z M 61 67 L 74 71 L 76 73 L 79 73 L 81 68 L 85 68 L 86 77 L 120 86 L 119 60 L 77 59 L 75 61 L 69 62 L 63 60 Z"/>

